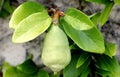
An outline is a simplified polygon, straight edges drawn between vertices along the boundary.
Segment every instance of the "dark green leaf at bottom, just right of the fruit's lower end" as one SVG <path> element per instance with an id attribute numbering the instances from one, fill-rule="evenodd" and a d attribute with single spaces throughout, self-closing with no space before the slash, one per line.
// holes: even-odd
<path id="1" fill-rule="evenodd" d="M 78 59 L 78 54 L 72 55 L 72 60 L 70 64 L 63 71 L 63 77 L 78 77 L 83 71 L 86 70 L 86 68 L 88 68 L 90 64 L 90 58 L 81 67 L 76 68 Z"/>

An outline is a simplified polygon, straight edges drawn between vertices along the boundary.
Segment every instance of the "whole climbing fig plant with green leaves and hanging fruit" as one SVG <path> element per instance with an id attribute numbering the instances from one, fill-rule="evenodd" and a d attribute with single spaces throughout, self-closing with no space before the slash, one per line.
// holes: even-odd
<path id="1" fill-rule="evenodd" d="M 62 12 L 32 1 L 16 8 L 9 23 L 12 42 L 28 42 L 47 31 L 41 60 L 54 74 L 37 68 L 30 58 L 16 67 L 7 65 L 3 77 L 119 77 L 116 44 L 105 41 L 97 25 L 103 26 L 120 2 L 85 1 L 104 4 L 105 9 L 88 16 L 75 8 Z"/>

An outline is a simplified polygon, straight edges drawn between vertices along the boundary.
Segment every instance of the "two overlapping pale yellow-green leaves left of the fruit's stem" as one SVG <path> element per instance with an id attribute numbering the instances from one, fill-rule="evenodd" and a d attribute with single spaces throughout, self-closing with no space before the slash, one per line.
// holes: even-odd
<path id="1" fill-rule="evenodd" d="M 39 3 L 23 3 L 13 12 L 9 23 L 10 28 L 15 29 L 12 41 L 23 43 L 33 40 L 50 26 L 51 21 L 47 11 Z"/>

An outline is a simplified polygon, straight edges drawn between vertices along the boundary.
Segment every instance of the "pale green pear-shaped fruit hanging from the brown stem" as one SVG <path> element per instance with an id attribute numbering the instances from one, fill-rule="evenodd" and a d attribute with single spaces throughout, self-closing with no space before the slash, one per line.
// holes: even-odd
<path id="1" fill-rule="evenodd" d="M 46 34 L 42 62 L 54 73 L 64 69 L 71 60 L 70 48 L 67 36 L 57 25 L 52 25 Z"/>

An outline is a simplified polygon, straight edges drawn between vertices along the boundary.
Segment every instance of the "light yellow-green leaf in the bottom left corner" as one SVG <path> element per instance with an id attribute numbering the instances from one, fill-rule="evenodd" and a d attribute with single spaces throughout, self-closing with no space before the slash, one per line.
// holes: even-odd
<path id="1" fill-rule="evenodd" d="M 27 74 L 17 70 L 15 67 L 6 68 L 3 77 L 29 77 Z"/>

